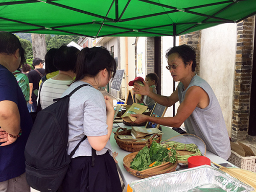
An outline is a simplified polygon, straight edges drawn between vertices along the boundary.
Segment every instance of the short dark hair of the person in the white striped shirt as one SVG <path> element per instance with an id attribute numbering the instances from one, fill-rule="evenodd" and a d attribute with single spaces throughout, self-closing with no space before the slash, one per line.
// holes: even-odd
<path id="1" fill-rule="evenodd" d="M 76 72 L 77 56 L 80 51 L 74 46 L 62 45 L 57 50 L 53 64 L 58 70 Z"/>

